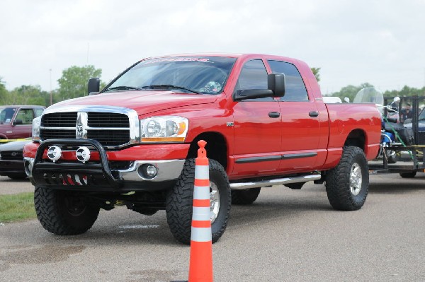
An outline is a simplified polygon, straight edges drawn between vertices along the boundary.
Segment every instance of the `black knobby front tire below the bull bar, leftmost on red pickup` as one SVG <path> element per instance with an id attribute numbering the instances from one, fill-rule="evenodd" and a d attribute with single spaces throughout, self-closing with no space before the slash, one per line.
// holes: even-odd
<path id="1" fill-rule="evenodd" d="M 35 187 L 35 212 L 45 230 L 55 235 L 78 235 L 91 228 L 100 207 L 86 204 L 84 196 L 64 190 Z"/>

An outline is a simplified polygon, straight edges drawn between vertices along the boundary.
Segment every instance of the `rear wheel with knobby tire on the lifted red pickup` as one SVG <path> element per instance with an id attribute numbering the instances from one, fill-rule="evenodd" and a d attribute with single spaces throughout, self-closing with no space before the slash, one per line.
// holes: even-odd
<path id="1" fill-rule="evenodd" d="M 331 206 L 341 211 L 356 211 L 368 196 L 368 162 L 361 148 L 345 146 L 336 168 L 326 176 L 326 192 Z"/>

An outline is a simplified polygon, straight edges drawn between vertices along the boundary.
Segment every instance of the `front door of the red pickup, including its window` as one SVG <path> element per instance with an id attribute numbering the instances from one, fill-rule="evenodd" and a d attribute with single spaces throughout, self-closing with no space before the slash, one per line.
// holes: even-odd
<path id="1" fill-rule="evenodd" d="M 267 89 L 261 59 L 242 67 L 236 90 Z M 280 109 L 273 98 L 249 99 L 234 105 L 233 175 L 261 175 L 276 171 L 280 162 Z"/>

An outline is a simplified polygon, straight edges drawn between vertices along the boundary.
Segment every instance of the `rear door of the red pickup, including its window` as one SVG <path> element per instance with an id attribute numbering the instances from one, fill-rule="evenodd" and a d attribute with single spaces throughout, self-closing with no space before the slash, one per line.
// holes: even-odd
<path id="1" fill-rule="evenodd" d="M 285 172 L 309 171 L 316 165 L 321 127 L 319 110 L 309 99 L 302 77 L 295 67 L 285 61 L 268 60 L 273 73 L 285 74 L 285 95 L 279 99 L 282 134 L 279 170 Z"/>

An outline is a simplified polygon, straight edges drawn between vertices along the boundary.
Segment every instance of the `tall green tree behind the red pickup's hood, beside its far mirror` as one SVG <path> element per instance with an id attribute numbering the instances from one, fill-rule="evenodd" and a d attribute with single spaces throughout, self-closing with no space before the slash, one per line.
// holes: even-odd
<path id="1" fill-rule="evenodd" d="M 67 100 L 87 95 L 87 82 L 92 77 L 101 77 L 102 70 L 94 66 L 71 66 L 62 71 L 59 83 L 58 99 Z"/>

